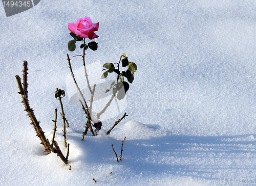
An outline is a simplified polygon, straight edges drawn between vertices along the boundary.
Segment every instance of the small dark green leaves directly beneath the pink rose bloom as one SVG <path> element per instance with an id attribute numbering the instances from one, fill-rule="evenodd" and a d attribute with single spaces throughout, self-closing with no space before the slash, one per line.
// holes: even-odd
<path id="1" fill-rule="evenodd" d="M 81 38 L 80 36 L 77 36 L 76 34 L 74 34 L 73 32 L 70 33 L 70 35 L 74 38 L 73 40 L 69 41 L 68 43 L 68 48 L 69 51 L 74 51 L 76 49 L 76 42 L 77 41 L 83 41 L 84 39 Z M 97 50 L 98 49 L 98 44 L 95 41 L 91 41 L 88 44 L 83 43 L 80 45 L 80 48 L 83 48 L 85 50 L 87 50 L 88 48 L 92 49 L 92 50 Z"/>

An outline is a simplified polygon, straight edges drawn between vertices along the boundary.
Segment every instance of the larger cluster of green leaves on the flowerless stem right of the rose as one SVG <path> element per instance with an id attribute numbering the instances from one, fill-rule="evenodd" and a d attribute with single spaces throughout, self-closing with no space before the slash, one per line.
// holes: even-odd
<path id="1" fill-rule="evenodd" d="M 125 67 L 127 69 L 120 71 L 120 65 L 122 65 L 124 69 Z M 126 92 L 129 90 L 129 87 L 130 87 L 129 83 L 133 83 L 134 81 L 134 72 L 136 72 L 137 70 L 137 65 L 134 62 L 129 62 L 126 55 L 123 54 L 120 57 L 119 63 L 105 63 L 103 67 L 104 67 L 103 70 L 106 70 L 106 71 L 101 75 L 101 78 L 106 78 L 108 74 L 112 72 L 115 72 L 117 74 L 117 82 L 112 82 L 110 89 L 107 89 L 105 93 L 113 89 L 112 90 L 113 94 L 118 92 L 117 98 L 119 100 L 123 99 Z M 125 78 L 129 83 L 124 81 Z"/>

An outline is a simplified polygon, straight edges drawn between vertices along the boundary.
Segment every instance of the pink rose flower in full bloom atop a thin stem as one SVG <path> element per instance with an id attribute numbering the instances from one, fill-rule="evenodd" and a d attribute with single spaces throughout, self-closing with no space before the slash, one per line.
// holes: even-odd
<path id="1" fill-rule="evenodd" d="M 94 33 L 95 31 L 98 31 L 99 23 L 93 23 L 90 17 L 87 16 L 83 19 L 77 19 L 76 22 L 69 23 L 68 29 L 81 38 L 94 39 L 99 37 Z"/>

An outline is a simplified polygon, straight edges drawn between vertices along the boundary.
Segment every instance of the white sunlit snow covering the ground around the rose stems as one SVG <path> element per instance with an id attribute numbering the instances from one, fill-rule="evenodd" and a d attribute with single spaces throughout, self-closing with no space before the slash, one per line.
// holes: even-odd
<path id="1" fill-rule="evenodd" d="M 123 113 L 105 120 L 98 136 L 81 141 L 86 118 L 79 105 L 63 99 L 69 170 L 56 154 L 44 154 L 15 75 L 22 75 L 27 60 L 30 104 L 51 139 L 54 109 L 60 110 L 54 92 L 66 89 L 69 75 L 67 53 L 80 54 L 68 51 L 68 23 L 84 16 L 99 22 L 99 47 L 87 52 L 87 63 L 117 62 L 125 52 L 138 70 L 126 96 L 129 116 L 109 136 L 106 130 Z M 254 0 L 41 0 L 10 17 L 1 4 L 0 184 L 243 185 L 231 183 L 243 178 L 251 185 L 255 17 Z M 78 57 L 71 63 L 73 69 L 82 66 Z M 60 116 L 57 127 L 56 141 L 65 153 Z M 111 144 L 119 154 L 124 137 L 117 163 Z"/>

